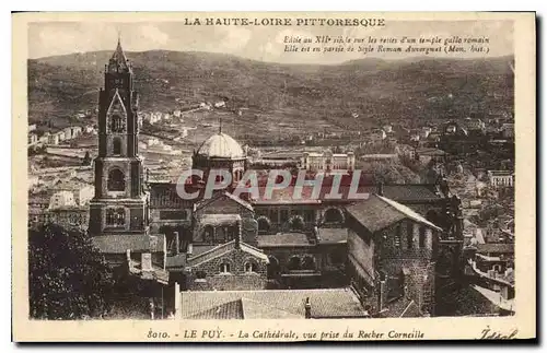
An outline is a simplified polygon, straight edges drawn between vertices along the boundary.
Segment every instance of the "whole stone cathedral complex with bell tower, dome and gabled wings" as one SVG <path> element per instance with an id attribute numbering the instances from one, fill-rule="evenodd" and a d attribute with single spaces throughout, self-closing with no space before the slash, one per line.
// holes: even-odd
<path id="1" fill-rule="evenodd" d="M 418 313 L 433 310 L 437 259 L 450 256 L 446 267 L 456 269 L 462 244 L 461 202 L 445 180 L 363 183 L 359 192 L 369 197 L 358 202 L 346 197 L 346 185 L 341 198 L 330 199 L 328 185 L 318 197 L 304 187 L 294 198 L 292 184 L 276 190 L 261 185 L 268 198 L 236 196 L 228 187 L 212 198 L 186 200 L 175 183 L 147 177 L 133 77 L 118 40 L 98 97 L 89 226 L 113 266 L 182 291 L 351 285 L 363 306 L 379 311 L 400 301 L 419 303 Z M 202 196 L 211 169 L 229 170 L 235 184 L 249 163 L 240 143 L 219 128 L 195 150 L 193 168 L 203 178 L 189 179 L 185 188 Z"/>

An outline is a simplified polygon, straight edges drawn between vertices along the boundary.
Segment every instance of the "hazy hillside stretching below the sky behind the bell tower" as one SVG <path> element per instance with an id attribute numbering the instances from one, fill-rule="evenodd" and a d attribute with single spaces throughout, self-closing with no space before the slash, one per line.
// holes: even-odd
<path id="1" fill-rule="evenodd" d="M 94 109 L 110 55 L 28 60 L 30 120 L 58 125 L 78 110 Z M 303 125 L 321 119 L 354 129 L 386 120 L 412 126 L 465 117 L 472 109 L 511 111 L 513 105 L 510 57 L 303 66 L 209 52 L 153 50 L 127 56 L 144 110 L 174 109 L 175 98 L 198 103 L 225 96 L 235 106 L 290 114 Z M 352 118 L 352 111 L 359 118 Z"/>

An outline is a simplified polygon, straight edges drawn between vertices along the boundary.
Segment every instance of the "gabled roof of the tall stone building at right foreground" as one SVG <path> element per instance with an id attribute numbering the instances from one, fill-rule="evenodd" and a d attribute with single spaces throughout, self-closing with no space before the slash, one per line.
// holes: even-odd
<path id="1" fill-rule="evenodd" d="M 371 233 L 381 231 L 405 219 L 410 219 L 423 225 L 440 230 L 437 225 L 408 207 L 377 195 L 373 195 L 368 200 L 359 203 L 348 205 L 346 210 Z"/>

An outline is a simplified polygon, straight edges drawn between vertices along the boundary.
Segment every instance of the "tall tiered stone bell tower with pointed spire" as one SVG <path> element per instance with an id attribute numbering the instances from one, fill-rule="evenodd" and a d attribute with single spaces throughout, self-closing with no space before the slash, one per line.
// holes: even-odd
<path id="1" fill-rule="evenodd" d="M 147 234 L 148 193 L 139 156 L 139 98 L 133 71 L 120 40 L 105 64 L 98 93 L 98 155 L 95 197 L 90 203 L 90 234 Z"/>

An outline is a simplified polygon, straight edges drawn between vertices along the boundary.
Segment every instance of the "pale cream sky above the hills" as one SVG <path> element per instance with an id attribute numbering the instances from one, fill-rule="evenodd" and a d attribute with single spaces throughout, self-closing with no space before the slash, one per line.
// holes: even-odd
<path id="1" fill-rule="evenodd" d="M 195 17 L 188 17 L 193 21 Z M 205 21 L 205 17 L 200 17 Z M 253 19 L 253 17 L 252 17 Z M 259 17 L 261 20 L 261 17 Z M 293 19 L 294 21 L 294 19 Z M 396 59 L 416 57 L 416 54 L 369 52 L 286 52 L 283 40 L 296 37 L 329 35 L 331 37 L 399 38 L 458 36 L 488 38 L 489 52 L 458 54 L 457 57 L 496 57 L 513 54 L 513 23 L 511 21 L 391 21 L 384 27 L 362 26 L 236 26 L 184 25 L 181 21 L 150 22 L 31 22 L 28 24 L 28 57 L 32 59 L 85 52 L 114 50 L 118 34 L 126 51 L 166 49 L 176 51 L 211 51 L 236 55 L 263 61 L 282 63 L 338 63 L 365 57 Z M 356 49 L 357 50 L 357 49 Z M 445 52 L 430 56 L 446 57 Z"/>

